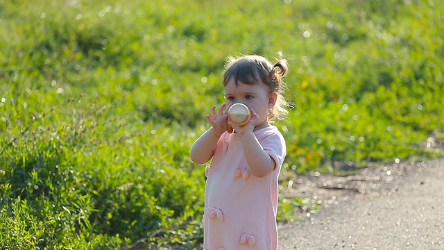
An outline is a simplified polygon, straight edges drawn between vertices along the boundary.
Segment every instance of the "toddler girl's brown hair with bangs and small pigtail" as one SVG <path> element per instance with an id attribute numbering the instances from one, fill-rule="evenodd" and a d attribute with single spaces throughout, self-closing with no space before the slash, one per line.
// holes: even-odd
<path id="1" fill-rule="evenodd" d="M 281 54 L 280 54 L 281 56 Z M 284 99 L 284 90 L 287 88 L 282 77 L 288 72 L 287 60 L 278 59 L 278 63 L 272 65 L 266 58 L 257 55 L 246 55 L 234 57 L 230 56 L 225 64 L 223 72 L 223 86 L 227 85 L 232 78 L 234 83 L 255 85 L 259 80 L 268 86 L 270 92 L 278 93 L 278 99 L 275 106 L 268 111 L 268 121 L 273 119 L 282 120 L 287 117 L 290 107 Z"/>

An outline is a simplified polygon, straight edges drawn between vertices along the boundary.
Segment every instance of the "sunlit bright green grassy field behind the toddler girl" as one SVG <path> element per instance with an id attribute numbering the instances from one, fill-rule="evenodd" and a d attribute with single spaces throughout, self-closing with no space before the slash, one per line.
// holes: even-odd
<path id="1" fill-rule="evenodd" d="M 283 172 L 443 156 L 443 25 L 435 0 L 0 0 L 2 249 L 200 242 L 189 148 L 241 53 L 289 59 Z"/>

